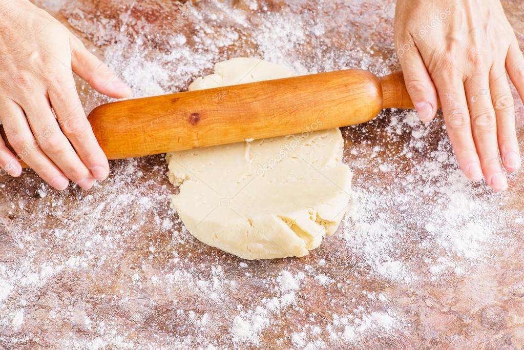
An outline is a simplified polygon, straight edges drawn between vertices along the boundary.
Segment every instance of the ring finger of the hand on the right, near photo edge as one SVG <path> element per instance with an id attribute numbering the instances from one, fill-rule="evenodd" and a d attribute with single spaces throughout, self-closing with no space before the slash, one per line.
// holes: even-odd
<path id="1" fill-rule="evenodd" d="M 515 127 L 515 104 L 504 67 L 493 67 L 489 74 L 489 88 L 497 116 L 497 138 L 500 158 L 509 172 L 520 168 L 520 151 Z"/>

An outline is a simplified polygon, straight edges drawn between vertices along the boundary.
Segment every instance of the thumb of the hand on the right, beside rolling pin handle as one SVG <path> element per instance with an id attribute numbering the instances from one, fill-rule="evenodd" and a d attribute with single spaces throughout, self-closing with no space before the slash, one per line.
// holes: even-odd
<path id="1" fill-rule="evenodd" d="M 431 76 L 416 47 L 401 52 L 400 64 L 409 96 L 422 122 L 430 122 L 436 114 L 437 97 Z"/>

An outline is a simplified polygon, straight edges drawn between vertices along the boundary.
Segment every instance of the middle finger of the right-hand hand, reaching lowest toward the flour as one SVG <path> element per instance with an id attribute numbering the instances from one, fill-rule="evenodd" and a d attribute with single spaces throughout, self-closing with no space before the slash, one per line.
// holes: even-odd
<path id="1" fill-rule="evenodd" d="M 481 159 L 484 178 L 493 190 L 504 191 L 508 188 L 508 181 L 500 164 L 497 120 L 489 90 L 489 78 L 487 74 L 475 74 L 465 81 L 464 87 L 472 117 L 473 139 Z"/>

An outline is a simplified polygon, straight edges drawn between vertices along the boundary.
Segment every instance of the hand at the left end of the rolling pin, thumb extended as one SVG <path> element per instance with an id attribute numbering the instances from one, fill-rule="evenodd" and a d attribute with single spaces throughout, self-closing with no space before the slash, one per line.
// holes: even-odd
<path id="1" fill-rule="evenodd" d="M 0 0 L 0 166 L 19 176 L 23 160 L 57 190 L 69 180 L 90 189 L 109 164 L 85 116 L 73 72 L 115 98 L 130 88 L 44 10 L 27 0 Z"/>

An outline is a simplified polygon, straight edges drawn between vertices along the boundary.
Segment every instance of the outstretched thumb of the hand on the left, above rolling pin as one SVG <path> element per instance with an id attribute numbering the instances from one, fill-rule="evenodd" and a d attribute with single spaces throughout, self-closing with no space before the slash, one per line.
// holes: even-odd
<path id="1" fill-rule="evenodd" d="M 73 72 L 104 95 L 122 99 L 129 96 L 131 88 L 117 78 L 115 73 L 85 48 L 78 38 L 71 40 L 71 64 Z"/>

